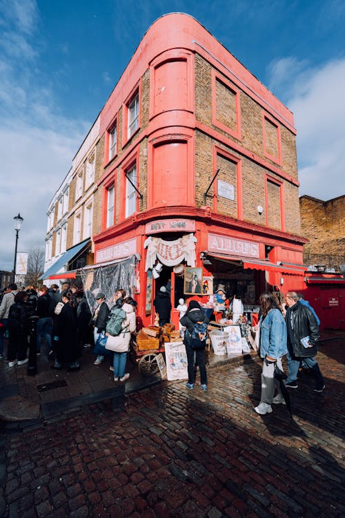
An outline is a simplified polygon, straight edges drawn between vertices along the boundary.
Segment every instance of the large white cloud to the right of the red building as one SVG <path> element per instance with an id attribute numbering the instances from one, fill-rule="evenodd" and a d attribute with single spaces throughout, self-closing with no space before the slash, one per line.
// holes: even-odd
<path id="1" fill-rule="evenodd" d="M 270 88 L 285 88 L 295 115 L 299 193 L 321 200 L 345 194 L 345 58 L 319 68 L 284 58 L 271 64 L 270 74 Z"/>

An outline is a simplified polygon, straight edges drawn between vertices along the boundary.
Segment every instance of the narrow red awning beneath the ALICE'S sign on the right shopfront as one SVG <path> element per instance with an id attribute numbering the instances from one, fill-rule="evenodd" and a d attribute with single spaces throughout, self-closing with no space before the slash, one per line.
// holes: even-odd
<path id="1" fill-rule="evenodd" d="M 295 265 L 291 262 L 280 262 L 280 264 L 275 264 L 274 262 L 270 262 L 268 260 L 263 259 L 250 259 L 239 256 L 226 256 L 220 253 L 215 252 L 204 252 L 204 255 L 213 257 L 220 261 L 229 262 L 231 265 L 239 264 L 244 267 L 244 269 L 251 270 L 262 270 L 262 271 L 275 271 L 280 274 L 288 274 L 288 275 L 302 275 L 304 271 L 306 271 L 306 267 L 304 265 Z"/>

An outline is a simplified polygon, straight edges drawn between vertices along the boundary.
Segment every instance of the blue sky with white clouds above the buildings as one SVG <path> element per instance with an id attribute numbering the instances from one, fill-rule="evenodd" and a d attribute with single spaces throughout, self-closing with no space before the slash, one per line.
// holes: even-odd
<path id="1" fill-rule="evenodd" d="M 295 115 L 300 194 L 345 193 L 343 0 L 0 0 L 0 269 L 46 209 L 149 26 L 195 17 Z"/>

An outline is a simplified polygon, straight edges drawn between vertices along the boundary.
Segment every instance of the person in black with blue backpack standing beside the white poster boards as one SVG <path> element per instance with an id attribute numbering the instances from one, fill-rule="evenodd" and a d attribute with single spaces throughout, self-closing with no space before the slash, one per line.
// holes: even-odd
<path id="1" fill-rule="evenodd" d="M 208 316 L 204 314 L 196 300 L 190 300 L 186 314 L 180 318 L 180 323 L 186 327 L 184 345 L 188 361 L 188 382 L 186 387 L 193 390 L 196 366 L 199 366 L 201 390 L 207 390 L 207 373 L 205 364 L 205 347 L 207 336 Z"/>

